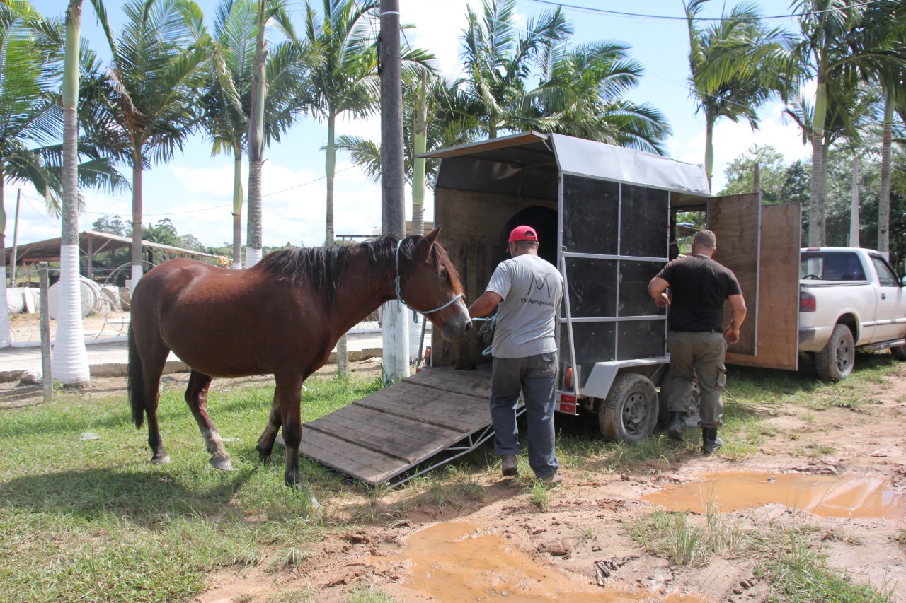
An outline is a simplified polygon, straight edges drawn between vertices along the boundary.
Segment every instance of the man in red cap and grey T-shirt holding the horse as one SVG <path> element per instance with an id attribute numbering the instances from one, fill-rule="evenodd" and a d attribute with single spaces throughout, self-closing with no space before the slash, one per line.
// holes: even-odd
<path id="1" fill-rule="evenodd" d="M 497 265 L 487 290 L 469 307 L 475 318 L 498 305 L 491 355 L 491 422 L 494 450 L 506 477 L 519 474 L 519 431 L 516 407 L 525 398 L 528 464 L 548 485 L 562 481 L 554 454 L 554 398 L 557 343 L 554 326 L 563 299 L 563 277 L 538 256 L 538 235 L 532 226 L 510 233 L 510 259 Z"/>

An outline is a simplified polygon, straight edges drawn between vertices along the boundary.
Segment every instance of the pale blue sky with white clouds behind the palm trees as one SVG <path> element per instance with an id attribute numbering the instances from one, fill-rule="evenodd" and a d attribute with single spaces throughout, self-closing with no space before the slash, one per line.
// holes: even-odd
<path id="1" fill-rule="evenodd" d="M 407 41 L 435 53 L 442 69 L 450 75 L 458 72 L 459 35 L 466 23 L 467 2 L 480 11 L 480 0 L 400 0 L 400 18 L 414 24 L 406 33 Z M 302 5 L 292 2 L 291 11 L 296 23 L 302 24 Z M 123 17 L 122 3 L 107 3 L 111 24 L 119 32 Z M 198 4 L 210 24 L 217 6 L 216 0 L 199 0 Z M 320 5 L 320 2 L 315 2 Z M 690 163 L 704 161 L 704 122 L 695 114 L 686 83 L 688 72 L 688 33 L 681 0 L 646 0 L 626 3 L 622 0 L 572 0 L 564 6 L 567 18 L 575 29 L 575 43 L 591 40 L 612 40 L 631 45 L 631 56 L 645 66 L 641 85 L 628 95 L 632 101 L 650 102 L 664 113 L 673 136 L 667 142 L 672 158 Z M 33 0 L 42 14 L 63 13 L 63 0 Z M 728 3 L 732 5 L 732 3 Z M 792 13 L 790 0 L 761 0 L 757 2 L 763 15 Z M 538 0 L 517 2 L 520 19 L 527 21 L 533 14 L 551 10 L 553 6 Z M 703 16 L 717 17 L 722 3 L 714 0 L 706 5 Z M 602 13 L 600 10 L 654 16 L 629 16 Z M 679 18 L 677 18 L 679 17 Z M 794 27 L 789 18 L 771 19 L 770 24 Z M 103 40 L 95 24 L 88 2 L 82 16 L 82 34 L 92 48 L 103 56 Z M 715 129 L 714 190 L 723 187 L 723 171 L 729 161 L 744 153 L 752 144 L 771 144 L 784 153 L 787 160 L 805 158 L 809 148 L 802 144 L 798 130 L 781 117 L 782 108 L 770 103 L 761 111 L 761 129 L 752 132 L 745 123 L 718 121 Z M 380 122 L 343 120 L 338 134 L 358 134 L 379 139 Z M 312 118 L 303 118 L 279 145 L 265 149 L 264 172 L 264 243 L 323 244 L 325 187 L 324 152 L 326 128 Z M 246 166 L 247 167 L 247 166 Z M 124 173 L 130 174 L 128 168 Z M 156 165 L 144 175 L 143 222 L 157 222 L 169 217 L 180 235 L 195 235 L 204 244 L 226 244 L 232 241 L 230 215 L 233 181 L 233 160 L 230 156 L 210 156 L 210 144 L 201 136 L 190 139 L 185 152 L 169 164 Z M 246 186 L 246 177 L 243 178 Z M 6 228 L 7 244 L 12 244 L 16 187 L 7 186 L 5 206 L 9 216 Z M 129 192 L 103 196 L 83 191 L 87 210 L 80 215 L 80 230 L 89 229 L 102 215 L 131 217 Z M 348 158 L 338 158 L 335 182 L 335 232 L 337 235 L 367 235 L 381 227 L 381 190 L 371 183 Z M 60 222 L 46 214 L 43 200 L 34 190 L 23 188 L 23 202 L 18 225 L 18 242 L 29 243 L 60 235 Z M 426 219 L 433 214 L 429 198 Z M 407 206 L 410 198 L 407 196 Z M 410 215 L 407 210 L 407 217 Z M 243 215 L 243 242 L 246 241 L 246 215 Z"/>

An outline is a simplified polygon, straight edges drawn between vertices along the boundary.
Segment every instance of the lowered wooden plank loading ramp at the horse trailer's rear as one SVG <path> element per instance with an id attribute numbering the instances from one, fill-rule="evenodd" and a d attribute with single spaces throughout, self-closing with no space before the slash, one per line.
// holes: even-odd
<path id="1" fill-rule="evenodd" d="M 302 426 L 300 452 L 371 485 L 402 483 L 494 435 L 490 364 L 432 367 Z M 434 458 L 436 457 L 436 458 Z M 431 459 L 429 466 L 405 475 Z"/>

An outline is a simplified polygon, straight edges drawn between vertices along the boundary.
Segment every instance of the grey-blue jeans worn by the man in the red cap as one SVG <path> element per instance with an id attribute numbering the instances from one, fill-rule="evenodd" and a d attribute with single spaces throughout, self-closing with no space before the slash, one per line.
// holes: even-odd
<path id="1" fill-rule="evenodd" d="M 501 456 L 519 454 L 516 407 L 522 391 L 528 422 L 528 464 L 540 479 L 557 473 L 560 467 L 554 454 L 556 374 L 556 352 L 528 358 L 495 357 L 491 374 L 494 451 Z"/>

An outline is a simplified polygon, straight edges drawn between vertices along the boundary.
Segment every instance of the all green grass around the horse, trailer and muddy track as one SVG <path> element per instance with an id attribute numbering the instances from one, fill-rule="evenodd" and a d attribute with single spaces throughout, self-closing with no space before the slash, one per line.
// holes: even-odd
<path id="1" fill-rule="evenodd" d="M 745 458 L 766 438 L 777 436 L 776 429 L 762 423 L 765 417 L 789 414 L 786 407 L 823 412 L 832 405 L 809 404 L 855 397 L 875 388 L 900 365 L 887 356 L 860 355 L 856 366 L 851 378 L 834 385 L 821 384 L 807 368 L 799 373 L 731 368 L 726 424 L 720 429 L 727 444 L 718 456 Z M 380 388 L 380 382 L 321 378 L 310 380 L 306 388 L 302 418 L 310 421 L 366 396 Z M 149 463 L 147 429 L 136 430 L 131 424 L 124 397 L 63 392 L 46 405 L 0 411 L 4 601 L 185 600 L 204 589 L 212 572 L 302 567 L 316 541 L 349 522 L 392 526 L 416 505 L 429 512 L 477 508 L 486 497 L 477 475 L 499 476 L 493 447 L 483 445 L 411 480 L 405 486 L 411 495 L 385 503 L 385 487 L 348 483 L 302 458 L 304 479 L 324 505 L 322 512 L 313 513 L 306 496 L 284 486 L 282 448 L 275 448 L 271 464 L 258 463 L 255 444 L 273 387 L 210 395 L 211 414 L 233 458 L 232 473 L 207 464 L 209 454 L 182 389 L 181 383 L 165 379 L 161 392 L 162 436 L 173 458 L 165 466 Z M 602 472 L 658 473 L 677 459 L 699 454 L 697 429 L 690 429 L 681 443 L 658 430 L 630 445 L 604 441 L 593 417 L 558 415 L 556 424 L 557 456 L 567 479 L 579 481 L 582 474 L 593 479 Z M 100 439 L 82 440 L 84 432 Z M 804 455 L 828 452 L 803 445 Z M 531 479 L 525 455 L 519 462 L 523 477 L 517 483 L 525 488 L 521 492 L 526 502 L 547 509 L 557 491 L 549 493 Z M 657 521 L 661 529 L 679 533 L 681 538 L 670 545 L 670 556 L 677 560 L 692 563 L 702 555 L 737 554 L 728 552 L 742 546 L 737 541 L 752 540 L 746 546 L 756 548 L 748 550 L 760 546 L 756 536 L 737 533 L 732 526 L 690 522 L 677 514 L 664 514 Z M 645 546 L 666 546 L 656 544 L 651 533 Z M 902 531 L 894 541 L 906 547 Z M 778 560 L 765 571 L 781 567 Z M 351 597 L 389 600 L 379 591 L 355 591 Z M 279 600 L 317 600 L 317 593 L 293 590 L 281 593 Z"/>

